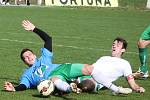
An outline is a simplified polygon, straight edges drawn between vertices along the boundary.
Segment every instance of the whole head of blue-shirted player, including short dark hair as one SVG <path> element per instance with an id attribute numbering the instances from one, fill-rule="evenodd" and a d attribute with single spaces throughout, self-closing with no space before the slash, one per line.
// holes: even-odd
<path id="1" fill-rule="evenodd" d="M 31 66 L 34 64 L 36 56 L 32 50 L 25 48 L 21 51 L 20 58 L 25 64 L 27 64 L 28 66 Z"/>

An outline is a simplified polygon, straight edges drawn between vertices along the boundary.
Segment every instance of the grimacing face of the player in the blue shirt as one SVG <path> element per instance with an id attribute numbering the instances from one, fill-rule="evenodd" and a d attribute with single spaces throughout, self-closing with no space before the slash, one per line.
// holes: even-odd
<path id="1" fill-rule="evenodd" d="M 36 56 L 31 51 L 26 51 L 23 53 L 24 62 L 30 66 L 33 65 L 36 59 Z"/>

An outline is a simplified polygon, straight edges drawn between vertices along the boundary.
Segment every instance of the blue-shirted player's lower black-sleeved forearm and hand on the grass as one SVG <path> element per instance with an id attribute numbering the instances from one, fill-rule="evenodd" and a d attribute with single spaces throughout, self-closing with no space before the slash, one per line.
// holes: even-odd
<path id="1" fill-rule="evenodd" d="M 24 84 L 19 84 L 18 86 L 14 87 L 12 83 L 5 82 L 4 89 L 6 91 L 14 92 L 14 91 L 23 91 L 23 90 L 26 90 L 27 88 Z"/>

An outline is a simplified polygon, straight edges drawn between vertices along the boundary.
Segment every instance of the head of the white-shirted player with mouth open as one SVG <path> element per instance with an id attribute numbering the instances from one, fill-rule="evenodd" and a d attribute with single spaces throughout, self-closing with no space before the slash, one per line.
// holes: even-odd
<path id="1" fill-rule="evenodd" d="M 112 56 L 121 57 L 121 55 L 126 51 L 127 41 L 121 37 L 114 39 L 112 44 Z"/>

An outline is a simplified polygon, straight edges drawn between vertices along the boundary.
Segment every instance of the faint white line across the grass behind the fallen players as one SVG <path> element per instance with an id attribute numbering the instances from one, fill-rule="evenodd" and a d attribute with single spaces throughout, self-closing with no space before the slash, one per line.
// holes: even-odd
<path id="1" fill-rule="evenodd" d="M 35 42 L 31 42 L 31 41 L 20 41 L 20 40 L 11 40 L 11 39 L 0 39 L 0 41 L 10 41 L 10 42 L 18 42 L 18 43 L 28 43 L 28 44 L 41 44 L 41 43 L 35 43 Z M 82 48 L 82 47 L 77 47 L 77 46 L 65 46 L 65 45 L 55 45 L 58 47 L 67 47 L 67 48 L 74 48 L 74 49 L 89 49 L 89 50 L 99 50 L 99 51 L 111 51 L 111 50 L 106 50 L 106 49 L 96 49 L 96 48 Z M 137 52 L 126 52 L 129 54 L 138 54 Z"/>

